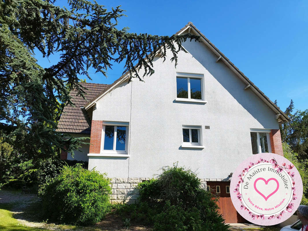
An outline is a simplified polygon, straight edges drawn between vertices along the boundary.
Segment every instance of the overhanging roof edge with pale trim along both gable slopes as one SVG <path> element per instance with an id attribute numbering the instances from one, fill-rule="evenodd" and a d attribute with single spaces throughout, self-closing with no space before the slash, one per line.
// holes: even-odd
<path id="1" fill-rule="evenodd" d="M 210 42 L 209 39 L 205 37 L 204 34 L 201 33 L 200 30 L 197 29 L 195 25 L 193 25 L 192 22 L 188 22 L 181 30 L 176 32 L 177 35 L 184 34 L 184 33 L 194 33 L 197 35 L 200 35 L 201 41 L 205 43 L 207 47 L 215 55 L 217 55 L 217 60 L 224 62 L 227 67 L 229 67 L 244 83 L 246 83 L 246 87 L 244 90 L 249 88 L 251 91 L 253 91 L 270 109 L 272 109 L 276 114 L 276 119 L 278 120 L 279 124 L 286 123 L 290 121 L 290 118 L 277 106 L 271 101 L 258 87 L 256 87 L 253 82 L 251 82 L 246 75 L 244 75 L 243 72 L 241 72 L 217 47 L 214 46 L 213 43 Z M 96 95 L 93 99 L 91 99 L 87 104 L 84 105 L 86 109 L 92 107 L 98 99 L 102 98 L 104 95 L 106 95 L 109 91 L 111 91 L 113 88 L 115 88 L 118 84 L 122 83 L 126 79 L 128 79 L 129 72 L 127 71 L 122 75 L 119 79 L 115 80 L 114 83 L 110 84 L 107 88 L 105 88 L 102 92 L 100 92 L 98 95 Z"/>

